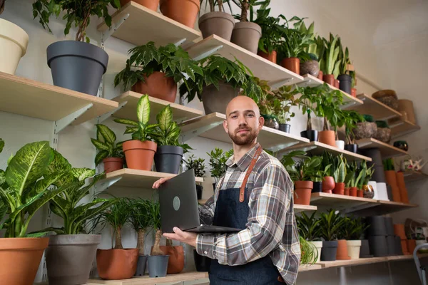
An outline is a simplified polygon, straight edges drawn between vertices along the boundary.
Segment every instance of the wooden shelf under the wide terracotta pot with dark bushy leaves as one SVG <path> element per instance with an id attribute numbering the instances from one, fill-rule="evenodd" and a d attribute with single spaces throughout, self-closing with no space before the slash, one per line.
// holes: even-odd
<path id="1" fill-rule="evenodd" d="M 142 95 L 143 94 L 128 91 L 116 98 L 113 98 L 113 101 L 116 101 L 118 103 L 122 103 L 125 101 L 128 102 L 126 103 L 126 105 L 124 105 L 121 108 L 121 110 L 118 110 L 116 113 L 114 113 L 114 116 L 118 118 L 137 120 L 137 114 L 136 114 L 137 103 Z M 189 108 L 176 103 L 170 103 L 168 101 L 150 97 L 150 96 L 148 98 L 150 100 L 150 106 L 151 106 L 151 112 L 150 112 L 151 122 L 156 122 L 156 115 L 166 105 L 170 105 L 170 107 L 173 109 L 174 120 L 183 121 L 183 120 L 188 120 L 190 118 L 195 118 L 200 115 L 203 115 L 203 111 L 201 110 Z"/>

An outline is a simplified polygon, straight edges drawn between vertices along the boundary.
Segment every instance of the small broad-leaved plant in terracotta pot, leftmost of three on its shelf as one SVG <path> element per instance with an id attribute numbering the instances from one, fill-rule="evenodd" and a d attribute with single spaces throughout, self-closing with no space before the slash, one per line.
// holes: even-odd
<path id="1" fill-rule="evenodd" d="M 92 144 L 98 150 L 95 165 L 104 163 L 106 173 L 123 168 L 123 142 L 116 143 L 116 134 L 106 125 L 96 125 L 96 138 L 91 138 Z"/>

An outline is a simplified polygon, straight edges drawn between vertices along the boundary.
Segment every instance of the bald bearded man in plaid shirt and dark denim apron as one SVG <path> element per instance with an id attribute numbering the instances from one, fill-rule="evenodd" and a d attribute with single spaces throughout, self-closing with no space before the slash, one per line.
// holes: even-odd
<path id="1" fill-rule="evenodd" d="M 234 234 L 193 234 L 174 228 L 168 239 L 185 242 L 214 259 L 210 284 L 295 284 L 300 244 L 292 182 L 279 160 L 263 151 L 257 136 L 264 119 L 245 96 L 230 101 L 223 122 L 233 141 L 225 175 L 200 207 L 205 224 L 242 229 Z M 158 180 L 158 188 L 166 179 Z"/>

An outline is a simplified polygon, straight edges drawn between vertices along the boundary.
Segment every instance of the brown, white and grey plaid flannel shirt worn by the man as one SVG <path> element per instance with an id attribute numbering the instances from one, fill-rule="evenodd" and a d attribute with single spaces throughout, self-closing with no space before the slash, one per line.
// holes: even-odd
<path id="1" fill-rule="evenodd" d="M 213 197 L 199 207 L 201 223 L 213 224 L 219 191 L 240 188 L 258 146 L 238 162 L 233 162 L 233 157 L 226 162 L 223 183 L 219 182 Z M 247 189 L 250 211 L 246 228 L 234 234 L 198 234 L 196 251 L 229 266 L 246 264 L 269 254 L 284 281 L 295 284 L 300 243 L 290 176 L 279 160 L 263 151 L 248 178 Z"/>

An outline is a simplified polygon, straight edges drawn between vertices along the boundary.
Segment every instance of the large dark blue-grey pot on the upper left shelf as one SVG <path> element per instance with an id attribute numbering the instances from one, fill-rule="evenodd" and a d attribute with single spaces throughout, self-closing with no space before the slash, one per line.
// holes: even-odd
<path id="1" fill-rule="evenodd" d="M 57 41 L 48 46 L 54 86 L 96 95 L 107 70 L 108 54 L 91 43 Z"/>

